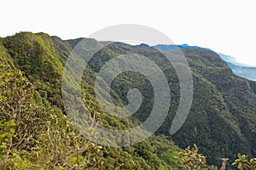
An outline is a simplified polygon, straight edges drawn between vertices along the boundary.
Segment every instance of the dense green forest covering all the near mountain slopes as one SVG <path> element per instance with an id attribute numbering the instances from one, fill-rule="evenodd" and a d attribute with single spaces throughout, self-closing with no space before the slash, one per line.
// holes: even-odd
<path id="1" fill-rule="evenodd" d="M 98 104 L 94 92 L 96 73 L 121 54 L 140 54 L 153 60 L 169 82 L 172 100 L 165 122 L 143 142 L 109 147 L 85 138 L 67 116 L 62 96 L 68 92 L 61 94 L 67 59 L 82 39 L 90 45 L 83 49 L 84 53 L 106 44 L 86 38 L 64 41 L 32 32 L 0 38 L 1 169 L 189 169 L 186 163 L 195 166 L 191 169 L 218 169 L 220 158 L 229 158 L 226 168 L 235 169 L 231 163 L 237 153 L 242 154 L 239 159 L 245 159 L 243 154 L 248 158 L 256 156 L 256 82 L 236 77 L 218 54 L 201 48 L 182 48 L 193 77 L 194 96 L 189 116 L 173 135 L 170 127 L 180 87 L 175 69 L 165 56 L 154 48 L 121 42 L 97 51 L 84 69 L 81 84 L 70 84 L 81 86 L 81 100 L 96 122 L 127 129 L 144 122 L 152 110 L 154 93 L 150 82 L 132 71 L 114 79 L 111 94 L 113 103 L 124 106 L 128 105 L 129 89 L 139 89 L 143 101 L 134 115 L 112 116 Z M 90 136 L 97 138 L 93 129 Z M 196 159 L 188 161 L 190 155 Z"/>

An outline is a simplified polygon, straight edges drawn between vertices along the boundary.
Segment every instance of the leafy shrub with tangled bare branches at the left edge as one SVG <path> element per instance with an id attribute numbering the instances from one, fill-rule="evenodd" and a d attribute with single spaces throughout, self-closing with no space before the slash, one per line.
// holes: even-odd
<path id="1" fill-rule="evenodd" d="M 34 89 L 21 71 L 8 65 L 0 65 L 0 71 L 0 120 L 15 123 L 16 136 L 9 137 L 9 150 L 22 150 L 43 130 L 46 113 L 32 103 Z"/>

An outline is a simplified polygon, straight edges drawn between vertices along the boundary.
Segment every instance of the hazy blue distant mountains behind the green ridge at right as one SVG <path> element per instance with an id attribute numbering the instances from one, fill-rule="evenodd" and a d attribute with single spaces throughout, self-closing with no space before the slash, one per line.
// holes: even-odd
<path id="1" fill-rule="evenodd" d="M 182 45 L 175 45 L 175 44 L 158 44 L 155 46 L 148 46 L 147 44 L 141 44 L 141 46 L 143 47 L 148 47 L 148 48 L 158 48 L 161 50 L 165 50 L 165 51 L 171 51 L 173 49 L 177 49 L 177 48 L 201 48 L 198 46 L 190 46 L 188 44 L 182 44 Z M 201 48 L 201 49 L 207 49 L 207 50 L 211 50 L 210 48 Z M 236 58 L 232 57 L 230 55 L 226 55 L 226 54 L 220 54 L 218 52 L 215 52 L 216 54 L 218 54 L 221 59 L 224 59 L 224 61 L 227 63 L 227 65 L 230 66 L 231 70 L 239 77 L 244 77 L 247 78 L 249 80 L 253 80 L 256 81 L 256 67 L 253 66 L 248 66 L 248 65 L 243 65 L 239 62 L 236 62 Z"/>

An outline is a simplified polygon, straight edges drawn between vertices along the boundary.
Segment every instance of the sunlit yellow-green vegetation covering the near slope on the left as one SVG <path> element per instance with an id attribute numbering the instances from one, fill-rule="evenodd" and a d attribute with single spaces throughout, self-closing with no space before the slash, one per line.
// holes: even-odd
<path id="1" fill-rule="evenodd" d="M 108 148 L 85 139 L 73 128 L 63 114 L 61 103 L 55 102 L 55 99 L 61 100 L 59 71 L 65 59 L 58 60 L 49 36 L 21 32 L 4 38 L 1 43 L 4 48 L 0 56 L 0 169 L 175 167 L 175 161 L 169 164 L 159 156 L 169 150 L 167 155 L 173 157 L 172 150 L 180 150 L 165 136 L 152 136 L 135 146 Z M 26 53 L 27 50 L 30 53 Z M 44 62 L 48 68 L 41 66 Z M 96 113 L 100 109 L 90 84 L 95 75 L 88 71 L 89 74 L 84 74 L 84 104 Z M 122 125 L 103 113 L 97 118 L 117 128 L 129 127 L 132 123 L 123 120 Z"/>

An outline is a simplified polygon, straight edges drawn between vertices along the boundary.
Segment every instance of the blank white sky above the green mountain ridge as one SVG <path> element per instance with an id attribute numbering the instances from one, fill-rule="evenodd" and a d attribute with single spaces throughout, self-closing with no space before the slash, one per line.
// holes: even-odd
<path id="1" fill-rule="evenodd" d="M 107 26 L 140 24 L 177 44 L 212 48 L 256 65 L 255 8 L 253 0 L 3 0 L 0 37 L 44 31 L 70 39 Z"/>

